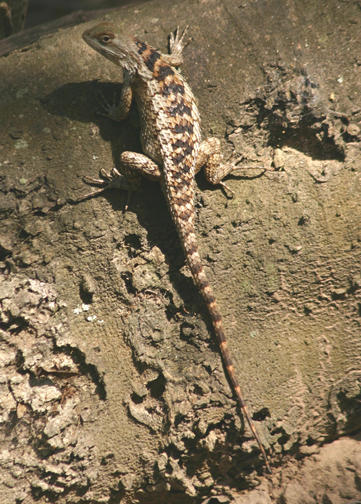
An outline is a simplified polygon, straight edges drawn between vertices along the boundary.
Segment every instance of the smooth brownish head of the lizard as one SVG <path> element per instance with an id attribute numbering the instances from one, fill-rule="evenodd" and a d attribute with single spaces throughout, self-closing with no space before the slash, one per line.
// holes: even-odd
<path id="1" fill-rule="evenodd" d="M 131 76 L 136 75 L 144 67 L 135 39 L 120 35 L 111 23 L 100 23 L 85 30 L 83 39 L 90 47 L 122 67 Z"/>

